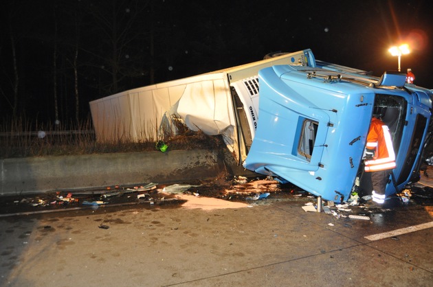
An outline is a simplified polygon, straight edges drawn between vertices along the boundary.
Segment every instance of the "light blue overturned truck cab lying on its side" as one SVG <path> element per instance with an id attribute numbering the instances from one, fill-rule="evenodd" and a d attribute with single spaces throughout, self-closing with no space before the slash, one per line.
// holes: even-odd
<path id="1" fill-rule="evenodd" d="M 257 128 L 243 162 L 248 170 L 324 200 L 347 200 L 353 190 L 368 190 L 362 157 L 377 114 L 390 128 L 396 153 L 386 195 L 418 181 L 432 91 L 407 84 L 405 74 L 388 71 L 378 78 L 310 60 L 261 69 L 258 83 Z"/>

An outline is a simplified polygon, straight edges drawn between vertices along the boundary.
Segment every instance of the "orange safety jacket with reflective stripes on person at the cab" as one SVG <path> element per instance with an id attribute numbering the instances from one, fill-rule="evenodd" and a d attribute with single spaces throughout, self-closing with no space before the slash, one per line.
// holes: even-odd
<path id="1" fill-rule="evenodd" d="M 390 170 L 396 167 L 390 130 L 384 122 L 375 117 L 371 119 L 366 148 L 375 150 L 373 159 L 366 160 L 365 162 L 366 172 Z"/>

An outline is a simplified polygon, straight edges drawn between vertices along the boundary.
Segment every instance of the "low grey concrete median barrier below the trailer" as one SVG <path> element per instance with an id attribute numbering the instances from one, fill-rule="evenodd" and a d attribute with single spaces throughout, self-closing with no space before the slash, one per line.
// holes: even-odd
<path id="1" fill-rule="evenodd" d="M 223 150 L 1 159 L 0 196 L 248 174 Z"/>

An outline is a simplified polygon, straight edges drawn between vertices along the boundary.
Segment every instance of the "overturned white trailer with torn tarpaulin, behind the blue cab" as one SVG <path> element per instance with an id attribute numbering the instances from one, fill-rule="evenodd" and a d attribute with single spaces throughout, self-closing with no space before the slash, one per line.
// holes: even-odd
<path id="1" fill-rule="evenodd" d="M 198 76 L 123 91 L 90 102 L 98 141 L 149 141 L 170 129 L 173 117 L 191 130 L 222 135 L 241 163 L 258 119 L 258 71 L 274 65 L 315 65 L 310 49 Z"/>

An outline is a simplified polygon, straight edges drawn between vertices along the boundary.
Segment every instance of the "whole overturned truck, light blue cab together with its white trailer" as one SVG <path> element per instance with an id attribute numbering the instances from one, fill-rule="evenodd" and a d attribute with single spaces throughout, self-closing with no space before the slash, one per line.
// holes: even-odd
<path id="1" fill-rule="evenodd" d="M 176 134 L 181 122 L 221 135 L 248 170 L 341 201 L 368 190 L 362 157 L 373 114 L 390 128 L 397 157 L 386 194 L 419 179 L 431 97 L 404 74 L 370 76 L 303 49 L 89 104 L 98 141 L 156 141 Z"/>

